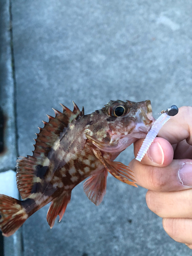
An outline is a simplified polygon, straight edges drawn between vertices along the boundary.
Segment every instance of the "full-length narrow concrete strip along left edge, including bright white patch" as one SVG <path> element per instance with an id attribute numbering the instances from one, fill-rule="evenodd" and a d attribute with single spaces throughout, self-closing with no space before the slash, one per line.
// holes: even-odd
<path id="1" fill-rule="evenodd" d="M 18 198 L 15 189 L 15 161 L 17 159 L 17 140 L 15 126 L 15 88 L 12 59 L 10 1 L 0 1 L 0 194 Z M 2 121 L 3 119 L 3 121 Z M 12 170 L 9 170 L 12 169 Z M 4 252 L 3 247 L 4 246 Z M 22 230 L 7 239 L 0 234 L 0 255 L 22 256 Z"/>

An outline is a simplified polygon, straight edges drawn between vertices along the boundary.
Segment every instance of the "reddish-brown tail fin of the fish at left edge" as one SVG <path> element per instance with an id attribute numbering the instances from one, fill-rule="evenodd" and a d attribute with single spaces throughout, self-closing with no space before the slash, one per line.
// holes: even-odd
<path id="1" fill-rule="evenodd" d="M 27 220 L 28 214 L 21 201 L 0 195 L 0 228 L 3 236 L 11 236 Z"/>

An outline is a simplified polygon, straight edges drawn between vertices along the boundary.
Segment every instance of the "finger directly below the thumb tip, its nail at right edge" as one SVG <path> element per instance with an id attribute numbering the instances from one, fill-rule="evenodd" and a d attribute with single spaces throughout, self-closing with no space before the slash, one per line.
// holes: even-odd
<path id="1" fill-rule="evenodd" d="M 173 160 L 168 166 L 144 165 L 133 159 L 130 168 L 139 186 L 154 191 L 179 191 L 192 187 L 192 160 Z"/>

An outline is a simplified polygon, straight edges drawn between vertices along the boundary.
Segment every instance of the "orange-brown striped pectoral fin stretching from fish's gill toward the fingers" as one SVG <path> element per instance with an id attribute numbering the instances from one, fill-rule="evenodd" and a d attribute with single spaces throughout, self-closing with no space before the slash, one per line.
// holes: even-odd
<path id="1" fill-rule="evenodd" d="M 108 172 L 113 175 L 116 179 L 137 187 L 135 184 L 135 177 L 133 175 L 133 171 L 130 169 L 129 166 L 124 165 L 123 163 L 120 162 L 113 162 L 106 160 L 101 152 L 97 150 L 96 148 L 93 148 L 93 152 L 97 159 L 104 165 L 104 167 L 108 170 Z"/>

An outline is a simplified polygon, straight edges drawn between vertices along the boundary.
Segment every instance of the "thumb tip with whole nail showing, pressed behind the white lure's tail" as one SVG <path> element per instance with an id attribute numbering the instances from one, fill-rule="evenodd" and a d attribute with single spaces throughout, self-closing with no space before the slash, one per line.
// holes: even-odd
<path id="1" fill-rule="evenodd" d="M 143 140 L 140 139 L 134 143 L 134 155 L 137 156 Z M 147 153 L 141 160 L 142 164 L 153 166 L 167 166 L 174 157 L 174 150 L 172 145 L 163 138 L 155 138 Z"/>

